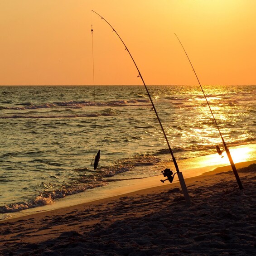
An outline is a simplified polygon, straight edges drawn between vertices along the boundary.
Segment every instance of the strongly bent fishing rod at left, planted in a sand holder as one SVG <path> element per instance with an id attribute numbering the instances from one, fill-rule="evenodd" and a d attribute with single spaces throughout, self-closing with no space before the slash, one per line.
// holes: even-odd
<path id="1" fill-rule="evenodd" d="M 174 157 L 174 154 L 173 154 L 173 151 L 172 151 L 172 149 L 171 149 L 171 147 L 170 147 L 169 140 L 168 140 L 168 138 L 167 138 L 167 136 L 166 136 L 166 134 L 165 134 L 164 127 L 163 127 L 162 122 L 161 122 L 161 120 L 160 120 L 160 118 L 159 118 L 159 116 L 158 116 L 158 112 L 156 111 L 154 102 L 153 102 L 153 100 L 152 100 L 152 98 L 151 98 L 151 96 L 150 96 L 150 92 L 149 92 L 149 90 L 148 90 L 148 88 L 147 88 L 147 86 L 146 86 L 146 84 L 145 84 L 145 82 L 144 82 L 144 79 L 143 79 L 143 77 L 142 77 L 142 75 L 141 75 L 141 73 L 140 73 L 140 70 L 139 70 L 137 64 L 135 63 L 134 58 L 132 57 L 130 51 L 129 51 L 128 48 L 126 47 L 126 44 L 124 43 L 124 41 L 121 39 L 121 37 L 119 36 L 119 34 L 116 32 L 116 30 L 111 26 L 111 24 L 109 24 L 109 23 L 106 21 L 106 19 L 104 19 L 100 14 L 98 14 L 98 13 L 95 12 L 94 10 L 92 10 L 92 12 L 94 12 L 95 14 L 97 14 L 98 16 L 100 16 L 101 19 L 103 19 L 103 20 L 111 27 L 111 29 L 113 29 L 113 32 L 116 33 L 116 35 L 118 36 L 118 38 L 121 40 L 121 42 L 122 42 L 123 45 L 125 46 L 125 50 L 129 53 L 130 58 L 132 59 L 132 61 L 133 61 L 134 65 L 135 65 L 137 71 L 139 72 L 138 77 L 140 77 L 140 79 L 142 80 L 142 82 L 143 82 L 143 84 L 144 84 L 144 86 L 145 86 L 146 92 L 147 92 L 147 94 L 148 94 L 148 97 L 150 98 L 150 102 L 151 102 L 152 107 L 153 107 L 153 109 L 154 109 L 154 111 L 155 111 L 155 115 L 156 115 L 156 117 L 157 117 L 157 120 L 158 120 L 158 122 L 159 122 L 159 125 L 161 126 L 161 129 L 162 129 L 163 134 L 164 134 L 164 138 L 165 138 L 165 140 L 166 140 L 166 143 L 167 143 L 167 145 L 168 145 L 170 154 L 171 154 L 171 156 L 172 156 L 172 159 L 173 159 L 173 162 L 174 162 L 174 166 L 175 166 L 175 168 L 176 168 L 176 172 L 177 172 L 177 175 L 178 175 L 178 178 L 179 178 L 179 183 L 180 183 L 180 186 L 181 186 L 181 188 L 182 188 L 182 192 L 183 192 L 183 194 L 184 194 L 184 198 L 185 198 L 185 200 L 186 200 L 187 205 L 190 205 L 190 204 L 191 204 L 191 201 L 190 201 L 190 197 L 189 197 L 189 194 L 188 194 L 188 189 L 187 189 L 187 186 L 186 186 L 186 183 L 185 183 L 183 174 L 182 174 L 182 172 L 179 171 L 179 167 L 178 167 L 177 161 L 176 161 L 176 159 L 175 159 L 175 157 Z"/>

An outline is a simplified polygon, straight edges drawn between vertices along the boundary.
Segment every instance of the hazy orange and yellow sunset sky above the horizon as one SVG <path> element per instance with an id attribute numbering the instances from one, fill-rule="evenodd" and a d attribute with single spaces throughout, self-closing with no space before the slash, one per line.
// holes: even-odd
<path id="1" fill-rule="evenodd" d="M 142 84 L 91 10 L 146 85 L 198 84 L 174 33 L 201 84 L 256 84 L 255 0 L 0 0 L 0 85 Z"/>

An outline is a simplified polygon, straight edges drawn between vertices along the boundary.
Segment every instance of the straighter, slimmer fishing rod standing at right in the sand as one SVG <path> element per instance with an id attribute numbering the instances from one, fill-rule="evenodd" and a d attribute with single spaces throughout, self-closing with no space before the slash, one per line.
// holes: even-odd
<path id="1" fill-rule="evenodd" d="M 174 33 L 174 34 L 175 34 L 175 33 Z M 179 40 L 179 37 L 178 37 L 176 34 L 175 34 L 175 36 L 176 36 L 177 39 Z M 185 54 L 186 54 L 186 56 L 187 56 L 187 58 L 188 58 L 188 54 L 187 54 L 187 52 L 185 51 L 185 48 L 183 47 L 183 45 L 182 45 L 182 43 L 180 42 L 180 40 L 179 40 L 179 43 L 181 44 L 181 46 L 182 46 L 182 48 L 183 48 L 183 50 L 184 50 L 184 52 L 185 52 Z M 229 162 L 230 162 L 230 165 L 231 165 L 231 167 L 232 167 L 233 173 L 234 173 L 234 175 L 235 175 L 235 177 L 236 177 L 236 179 L 237 179 L 237 184 L 238 184 L 238 186 L 239 186 L 240 189 L 243 189 L 242 182 L 241 182 L 241 180 L 240 180 L 240 178 L 239 178 L 239 175 L 238 175 L 238 173 L 237 173 L 237 168 L 236 168 L 236 166 L 235 166 L 235 164 L 234 164 L 234 162 L 233 162 L 233 159 L 232 159 L 232 156 L 231 156 L 231 154 L 230 154 L 230 151 L 229 151 L 229 149 L 227 148 L 227 145 L 226 145 L 226 143 L 225 143 L 225 141 L 224 141 L 224 139 L 223 139 L 223 137 L 222 137 L 222 133 L 221 133 L 221 131 L 220 131 L 220 129 L 219 129 L 219 126 L 218 126 L 218 124 L 217 124 L 217 121 L 216 121 L 216 119 L 215 119 L 215 117 L 214 117 L 214 115 L 213 115 L 213 111 L 212 111 L 211 106 L 210 106 L 210 104 L 209 104 L 209 102 L 208 102 L 208 100 L 207 100 L 207 97 L 206 97 L 206 95 L 205 95 L 205 93 L 204 93 L 204 91 L 203 91 L 203 87 L 202 87 L 202 85 L 201 85 L 201 83 L 200 83 L 200 81 L 199 81 L 199 79 L 198 79 L 197 73 L 195 72 L 194 67 L 193 67 L 193 65 L 192 65 L 192 63 L 191 63 L 191 61 L 190 61 L 189 58 L 188 58 L 188 61 L 189 61 L 190 65 L 191 65 L 191 67 L 192 67 L 192 69 L 193 69 L 193 72 L 195 73 L 195 76 L 196 76 L 196 78 L 197 78 L 197 80 L 198 80 L 198 83 L 199 83 L 199 85 L 200 85 L 200 87 L 201 87 L 201 90 L 202 90 L 202 92 L 203 92 L 203 96 L 205 97 L 206 102 L 207 102 L 207 105 L 208 105 L 208 107 L 209 107 L 209 109 L 210 109 L 210 111 L 211 111 L 211 113 L 212 113 L 213 120 L 214 120 L 214 122 L 215 122 L 215 124 L 216 124 L 216 126 L 217 126 L 217 129 L 218 129 L 218 131 L 219 131 L 219 134 L 220 134 L 220 136 L 221 136 L 222 143 L 223 143 L 224 148 L 225 148 L 225 151 L 226 151 L 226 153 L 227 153 L 227 157 L 228 157 L 228 159 L 229 159 Z M 219 153 L 219 151 L 220 151 L 219 148 L 218 148 L 218 146 L 217 146 L 217 151 L 218 151 L 218 153 Z M 220 152 L 221 152 L 221 151 L 220 151 Z"/>

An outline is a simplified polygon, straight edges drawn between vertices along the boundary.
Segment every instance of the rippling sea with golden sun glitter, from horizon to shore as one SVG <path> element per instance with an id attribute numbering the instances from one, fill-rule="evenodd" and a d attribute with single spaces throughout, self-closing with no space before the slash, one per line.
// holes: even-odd
<path id="1" fill-rule="evenodd" d="M 203 87 L 227 145 L 256 143 L 256 86 Z M 200 87 L 148 88 L 177 161 L 223 147 Z M 144 86 L 0 87 L 0 213 L 50 204 L 117 174 L 161 174 L 169 151 L 150 110 Z"/>

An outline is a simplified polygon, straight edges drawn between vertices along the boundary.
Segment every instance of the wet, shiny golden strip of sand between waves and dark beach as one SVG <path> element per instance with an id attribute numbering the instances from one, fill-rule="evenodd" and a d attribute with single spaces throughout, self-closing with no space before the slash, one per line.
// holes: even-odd
<path id="1" fill-rule="evenodd" d="M 237 155 L 237 152 L 240 153 L 241 150 L 246 153 L 246 155 L 242 154 L 245 155 L 245 157 L 242 157 L 241 154 Z M 237 159 L 246 159 L 246 161 L 243 161 L 242 163 L 248 162 L 248 159 L 255 159 L 256 144 L 240 145 L 234 148 L 230 148 L 230 151 L 232 155 L 235 155 L 236 159 L 234 158 L 234 162 L 237 166 L 237 169 L 239 169 L 242 165 L 237 163 Z M 196 178 L 202 174 L 210 174 L 214 171 L 214 169 L 222 168 L 223 166 L 227 166 L 227 168 L 230 166 L 227 156 L 225 155 L 225 157 L 221 158 L 217 153 L 179 161 L 179 169 L 184 175 L 185 182 L 187 182 L 187 180 L 190 178 Z M 145 169 L 146 167 L 144 166 L 140 168 Z M 159 168 L 170 168 L 172 170 L 175 169 L 173 162 L 166 163 L 165 167 L 162 164 L 159 166 Z M 161 174 L 143 179 L 124 179 L 116 182 L 110 182 L 108 185 L 103 187 L 88 189 L 81 193 L 59 198 L 53 204 L 29 208 L 18 212 L 1 213 L 0 216 L 2 216 L 2 218 L 0 219 L 0 222 L 17 217 L 23 217 L 26 215 L 33 215 L 40 212 L 48 212 L 58 208 L 67 208 L 82 203 L 89 203 L 104 198 L 124 195 L 126 193 L 131 193 L 146 188 L 161 187 L 166 185 L 166 183 L 162 184 L 160 179 L 163 179 L 163 175 Z M 179 183 L 177 175 L 175 175 L 174 182 L 172 184 L 175 183 Z"/>

